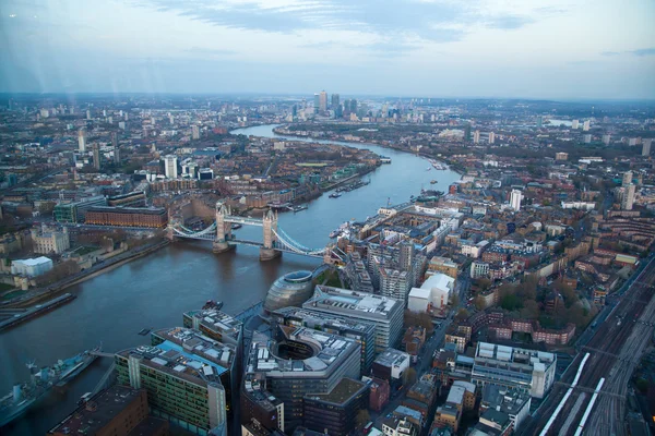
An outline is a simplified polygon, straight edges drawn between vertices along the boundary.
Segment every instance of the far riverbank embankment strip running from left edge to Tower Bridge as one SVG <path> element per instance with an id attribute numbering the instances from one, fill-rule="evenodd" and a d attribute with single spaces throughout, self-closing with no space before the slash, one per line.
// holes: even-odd
<path id="1" fill-rule="evenodd" d="M 2 304 L 2 308 L 26 308 L 34 304 L 38 304 L 44 300 L 48 300 L 57 296 L 61 292 L 66 291 L 68 288 L 82 283 L 86 280 L 90 280 L 94 277 L 97 277 L 102 274 L 108 272 L 112 269 L 118 268 L 129 262 L 141 258 L 147 254 L 151 254 L 157 250 L 160 250 L 168 245 L 170 241 L 162 240 L 155 244 L 151 244 L 147 246 L 139 247 L 136 250 L 130 250 L 111 261 L 104 262 L 102 264 L 96 264 L 95 266 L 81 271 L 72 277 L 68 277 L 63 280 L 60 280 L 57 283 L 50 284 L 47 288 L 33 289 L 27 291 L 27 294 L 21 295 L 17 301 L 7 301 Z"/>

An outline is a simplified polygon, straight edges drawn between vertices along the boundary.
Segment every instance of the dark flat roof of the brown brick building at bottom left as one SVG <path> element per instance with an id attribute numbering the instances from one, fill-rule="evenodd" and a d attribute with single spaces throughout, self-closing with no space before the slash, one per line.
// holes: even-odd
<path id="1" fill-rule="evenodd" d="M 114 385 L 92 397 L 86 404 L 48 431 L 48 434 L 94 435 L 139 398 L 142 390 Z M 87 404 L 91 408 L 87 408 Z"/>

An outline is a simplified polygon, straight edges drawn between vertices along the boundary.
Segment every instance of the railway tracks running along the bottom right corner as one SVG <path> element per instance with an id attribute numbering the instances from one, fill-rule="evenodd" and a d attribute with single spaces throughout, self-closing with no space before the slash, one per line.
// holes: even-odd
<path id="1" fill-rule="evenodd" d="M 591 419 L 587 420 L 582 434 L 624 434 L 624 400 L 620 397 L 626 397 L 628 380 L 634 370 L 635 362 L 641 358 L 641 353 L 652 337 L 653 327 L 650 327 L 648 324 L 655 322 L 655 300 L 652 299 L 654 282 L 655 264 L 653 259 L 650 259 L 648 265 L 632 282 L 612 313 L 598 326 L 594 337 L 585 347 L 585 352 L 588 352 L 591 356 L 577 382 L 580 389 L 573 390 L 558 420 L 556 420 L 556 424 L 544 432 L 548 420 L 568 390 L 567 385 L 572 384 L 585 352 L 575 356 L 562 375 L 561 383 L 553 385 L 548 397 L 533 414 L 532 420 L 524 424 L 522 435 L 575 434 L 586 409 L 584 400 L 581 400 L 584 402 L 583 407 L 575 405 L 579 397 L 581 395 L 588 396 L 590 390 L 595 390 L 600 378 L 606 379 L 606 385 L 600 391 L 598 401 L 592 410 Z M 643 302 L 648 303 L 646 305 Z M 638 323 L 638 320 L 644 323 Z M 611 380 L 612 377 L 617 378 L 616 383 Z M 603 391 L 614 395 L 604 396 Z M 570 415 L 574 415 L 574 419 L 571 420 Z M 564 421 L 565 424 L 570 424 L 565 428 L 562 425 Z M 603 425 L 599 423 L 603 423 Z"/>

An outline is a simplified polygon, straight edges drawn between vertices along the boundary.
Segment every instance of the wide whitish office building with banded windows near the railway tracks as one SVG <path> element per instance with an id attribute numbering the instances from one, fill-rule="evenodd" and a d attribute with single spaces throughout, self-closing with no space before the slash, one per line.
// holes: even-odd
<path id="1" fill-rule="evenodd" d="M 478 342 L 471 379 L 484 389 L 498 385 L 544 398 L 555 383 L 557 358 L 545 351 Z"/>

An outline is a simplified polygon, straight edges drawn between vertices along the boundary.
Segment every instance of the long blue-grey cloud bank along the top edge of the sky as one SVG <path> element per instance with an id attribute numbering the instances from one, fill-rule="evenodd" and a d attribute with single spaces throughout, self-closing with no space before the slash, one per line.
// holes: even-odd
<path id="1" fill-rule="evenodd" d="M 430 43 L 460 40 L 474 24 L 516 29 L 535 19 L 490 11 L 480 14 L 456 1 L 416 0 L 136 0 L 230 28 L 289 34 L 300 31 L 358 31 L 378 36 L 414 37 Z M 535 13 L 535 16 L 544 14 Z M 462 28 L 453 28 L 456 23 Z"/>

